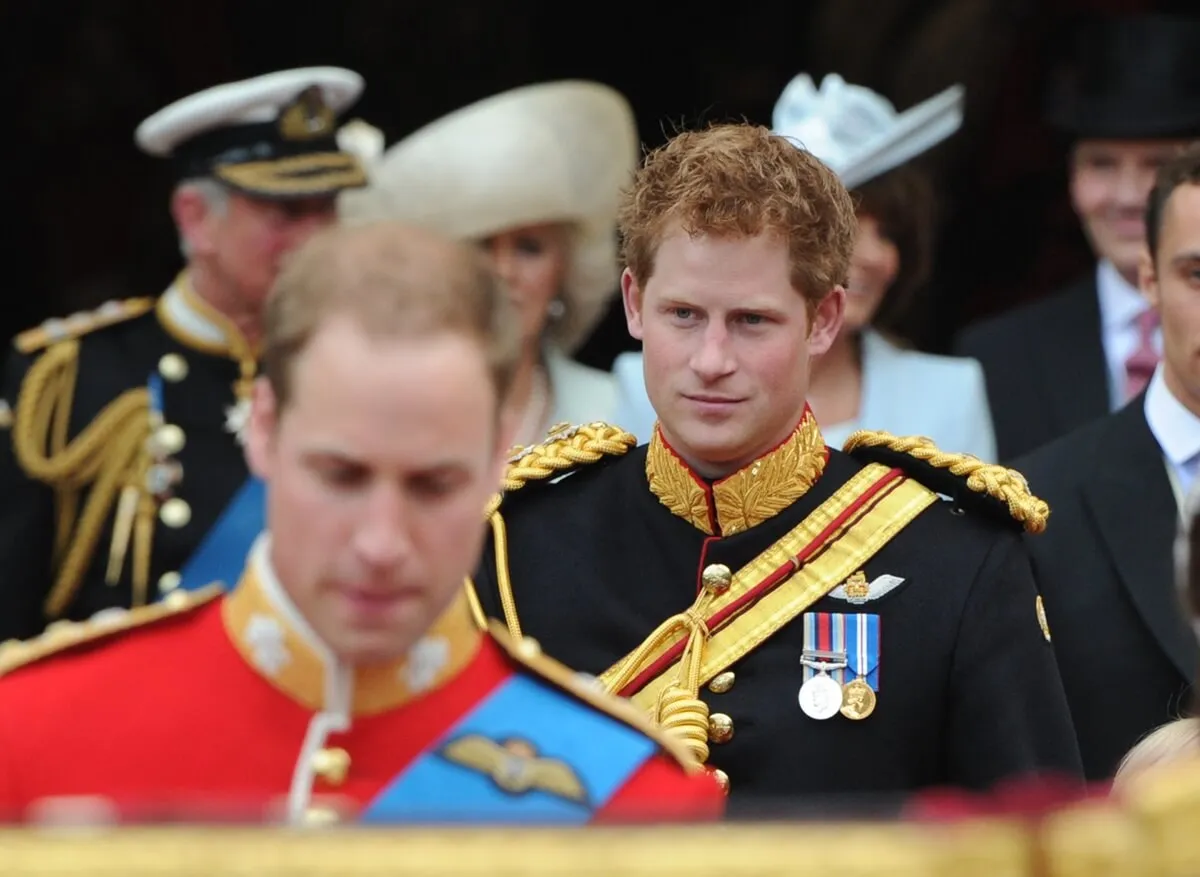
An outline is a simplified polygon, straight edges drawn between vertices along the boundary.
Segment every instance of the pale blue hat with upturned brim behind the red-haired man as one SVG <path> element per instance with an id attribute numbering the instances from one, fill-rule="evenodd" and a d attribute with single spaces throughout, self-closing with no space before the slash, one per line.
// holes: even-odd
<path id="1" fill-rule="evenodd" d="M 932 149 L 962 125 L 965 90 L 952 85 L 896 113 L 882 95 L 829 73 L 817 89 L 800 73 L 775 103 L 772 130 L 828 164 L 846 188 Z"/>

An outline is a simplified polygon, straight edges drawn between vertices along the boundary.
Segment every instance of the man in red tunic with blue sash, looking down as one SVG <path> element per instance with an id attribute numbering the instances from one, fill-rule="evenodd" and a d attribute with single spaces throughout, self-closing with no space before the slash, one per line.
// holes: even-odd
<path id="1" fill-rule="evenodd" d="M 247 439 L 269 529 L 232 591 L 0 651 L 0 811 L 53 819 L 94 795 L 133 821 L 719 815 L 685 749 L 472 615 L 517 338 L 464 245 L 377 224 L 295 253 Z"/>

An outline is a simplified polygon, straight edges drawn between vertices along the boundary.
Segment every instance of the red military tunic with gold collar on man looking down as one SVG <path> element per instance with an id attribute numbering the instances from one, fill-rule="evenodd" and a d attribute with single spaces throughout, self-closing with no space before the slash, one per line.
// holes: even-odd
<path id="1" fill-rule="evenodd" d="M 125 819 L 354 819 L 515 674 L 548 680 L 570 709 L 655 733 L 632 707 L 510 648 L 502 632 L 480 632 L 464 597 L 404 660 L 354 668 L 316 641 L 262 557 L 217 596 L 100 617 L 0 651 L 0 817 L 38 818 L 47 800 L 97 795 Z M 539 721 L 536 711 L 522 715 L 518 729 Z M 724 810 L 710 776 L 673 741 L 656 744 L 580 821 L 715 818 Z M 521 746 L 512 755 L 540 763 Z M 554 753 L 559 776 L 584 756 Z"/>

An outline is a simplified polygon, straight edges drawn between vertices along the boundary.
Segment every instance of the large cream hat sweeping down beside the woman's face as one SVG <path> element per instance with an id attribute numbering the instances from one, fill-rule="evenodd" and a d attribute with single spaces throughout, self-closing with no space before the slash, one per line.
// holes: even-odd
<path id="1" fill-rule="evenodd" d="M 349 139 L 371 140 L 362 131 Z M 617 292 L 617 206 L 637 160 L 637 125 L 619 92 L 578 80 L 529 85 L 450 113 L 368 158 L 368 187 L 347 192 L 340 210 L 346 222 L 400 220 L 463 240 L 571 223 L 565 313 L 550 326 L 570 353 Z"/>

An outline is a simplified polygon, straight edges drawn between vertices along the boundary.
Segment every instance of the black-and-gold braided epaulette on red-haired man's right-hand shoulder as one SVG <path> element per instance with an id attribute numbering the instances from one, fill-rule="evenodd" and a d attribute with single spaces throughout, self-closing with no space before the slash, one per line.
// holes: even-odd
<path id="1" fill-rule="evenodd" d="M 949 453 L 923 436 L 893 436 L 859 430 L 842 450 L 856 457 L 904 469 L 932 491 L 964 499 L 966 488 L 1002 510 L 1026 533 L 1042 533 L 1050 517 L 1045 500 L 1030 492 L 1025 476 L 1015 469 L 985 463 L 970 453 Z"/>

